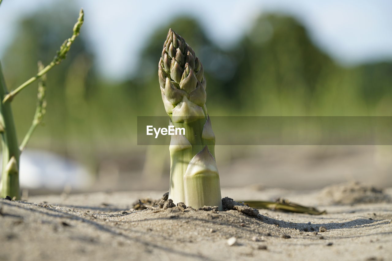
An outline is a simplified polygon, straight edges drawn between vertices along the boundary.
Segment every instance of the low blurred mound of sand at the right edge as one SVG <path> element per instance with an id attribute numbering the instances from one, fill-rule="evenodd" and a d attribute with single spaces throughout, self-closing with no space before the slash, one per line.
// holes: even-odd
<path id="1" fill-rule="evenodd" d="M 385 194 L 382 189 L 359 182 L 325 187 L 319 193 L 318 198 L 321 203 L 330 205 L 392 202 L 391 197 Z"/>

